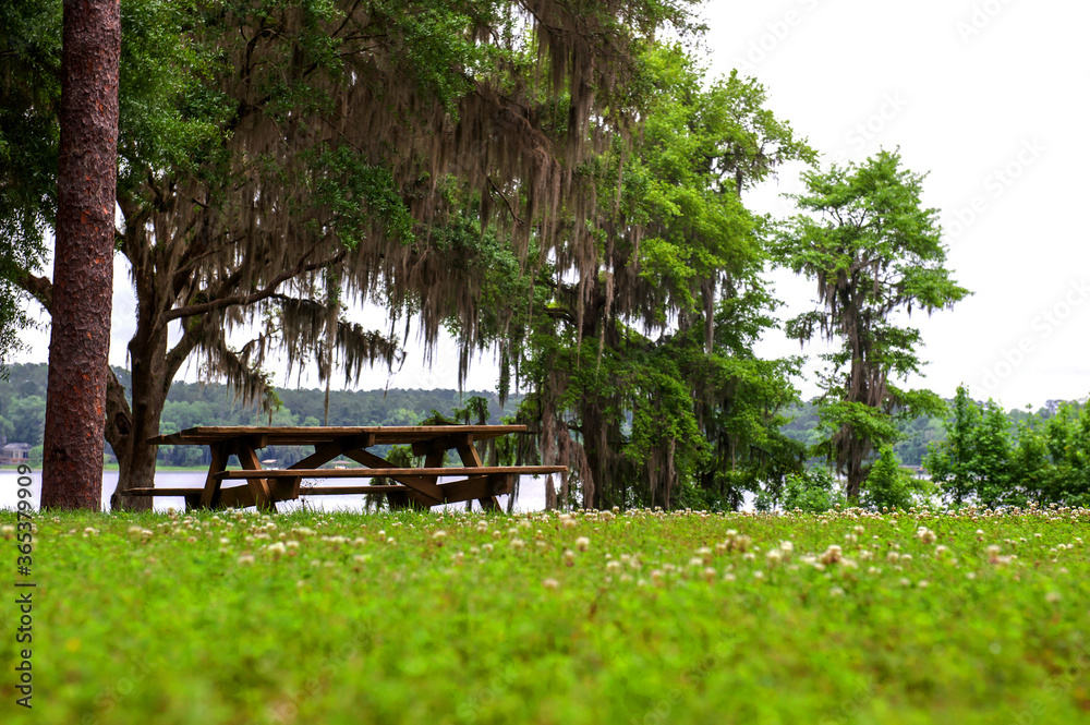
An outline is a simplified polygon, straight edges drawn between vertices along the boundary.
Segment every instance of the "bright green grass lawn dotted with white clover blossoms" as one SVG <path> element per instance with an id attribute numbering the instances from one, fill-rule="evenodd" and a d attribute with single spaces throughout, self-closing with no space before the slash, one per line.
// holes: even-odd
<path id="1" fill-rule="evenodd" d="M 1083 509 L 49 513 L 34 709 L 9 636 L 0 722 L 1090 722 L 1088 533 Z"/>

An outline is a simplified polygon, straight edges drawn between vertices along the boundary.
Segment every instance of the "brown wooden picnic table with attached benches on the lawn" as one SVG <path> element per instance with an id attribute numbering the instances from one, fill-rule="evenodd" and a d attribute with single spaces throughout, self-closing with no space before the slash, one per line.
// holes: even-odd
<path id="1" fill-rule="evenodd" d="M 183 496 L 186 508 L 256 506 L 275 509 L 276 503 L 300 496 L 386 494 L 392 507 L 427 508 L 474 500 L 485 508 L 498 506 L 496 496 L 511 493 L 512 479 L 524 473 L 559 473 L 564 466 L 485 466 L 473 445 L 509 433 L 525 433 L 525 425 L 413 425 L 413 426 L 201 426 L 149 438 L 158 446 L 208 446 L 211 463 L 203 488 L 133 488 L 133 496 Z M 367 450 L 373 446 L 410 445 L 423 467 L 398 467 Z M 314 446 L 314 454 L 286 469 L 262 468 L 257 450 L 266 446 Z M 461 466 L 444 466 L 448 450 L 457 450 Z M 231 456 L 240 469 L 228 469 Z M 359 468 L 318 468 L 344 456 Z M 389 485 L 302 486 L 303 479 L 386 478 Z M 440 476 L 464 476 L 439 482 Z M 243 481 L 234 486 L 227 482 Z"/>

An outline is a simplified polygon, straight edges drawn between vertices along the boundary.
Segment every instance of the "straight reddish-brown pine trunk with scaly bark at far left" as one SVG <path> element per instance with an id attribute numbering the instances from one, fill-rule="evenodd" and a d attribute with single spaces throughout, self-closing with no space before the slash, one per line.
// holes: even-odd
<path id="1" fill-rule="evenodd" d="M 118 0 L 65 0 L 43 508 L 102 506 L 118 172 Z"/>

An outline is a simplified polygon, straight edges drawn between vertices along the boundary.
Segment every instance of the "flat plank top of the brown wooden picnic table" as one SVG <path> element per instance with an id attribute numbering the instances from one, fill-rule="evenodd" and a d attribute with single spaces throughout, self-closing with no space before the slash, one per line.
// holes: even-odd
<path id="1" fill-rule="evenodd" d="M 371 445 L 382 446 L 465 435 L 471 435 L 475 440 L 485 440 L 508 433 L 525 433 L 526 430 L 525 425 L 202 425 L 148 438 L 148 443 L 157 446 L 206 446 L 235 438 L 256 437 L 268 446 L 306 446 L 373 435 Z"/>

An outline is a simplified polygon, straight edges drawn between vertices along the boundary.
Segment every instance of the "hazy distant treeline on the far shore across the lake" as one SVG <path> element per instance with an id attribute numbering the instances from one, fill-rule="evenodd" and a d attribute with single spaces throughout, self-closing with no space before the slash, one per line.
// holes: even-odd
<path id="1" fill-rule="evenodd" d="M 0 435 L 11 443 L 34 446 L 32 460 L 41 459 L 41 433 L 46 414 L 45 363 L 11 365 L 8 380 L 0 380 Z M 126 371 L 116 367 L 118 378 L 129 386 Z M 323 425 L 325 423 L 325 391 L 318 389 L 277 388 L 283 406 L 272 414 L 272 425 Z M 513 415 L 521 401 L 512 396 L 504 409 L 495 392 L 457 390 L 331 390 L 329 394 L 328 425 L 415 425 L 436 411 L 452 418 L 467 401 L 479 396 L 488 401 L 488 422 L 499 423 L 505 415 Z M 953 401 L 952 401 L 953 402 Z M 1063 401 L 1050 400 L 1036 413 L 1026 410 L 1005 411 L 1009 433 L 1016 435 L 1019 425 L 1031 419 L 1045 422 L 1059 410 Z M 791 421 L 784 426 L 784 434 L 808 445 L 818 443 L 818 408 L 803 403 L 787 412 Z M 946 439 L 946 428 L 941 418 L 921 416 L 898 423 L 901 439 L 894 445 L 894 452 L 904 466 L 921 466 L 931 444 Z M 170 388 L 160 424 L 161 433 L 174 433 L 196 425 L 264 425 L 267 415 L 259 415 L 255 408 L 246 407 L 225 385 L 174 383 Z M 109 446 L 107 446 L 109 452 Z M 159 460 L 169 466 L 199 466 L 207 463 L 207 451 L 201 447 L 164 446 Z M 306 455 L 304 449 L 263 451 L 281 464 L 290 464 Z"/>

